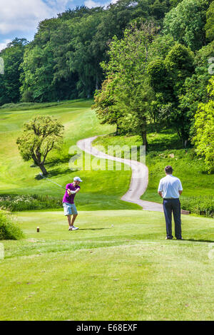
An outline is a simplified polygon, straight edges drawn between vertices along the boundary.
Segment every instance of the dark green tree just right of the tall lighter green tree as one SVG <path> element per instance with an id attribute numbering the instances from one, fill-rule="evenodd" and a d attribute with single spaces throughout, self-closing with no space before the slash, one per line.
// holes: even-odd
<path id="1" fill-rule="evenodd" d="M 179 97 L 184 93 L 185 79 L 192 76 L 194 55 L 189 48 L 175 43 L 165 59 L 151 61 L 148 76 L 156 93 L 159 121 L 172 125 L 183 145 L 187 144 L 190 130 L 188 114 L 179 108 Z"/>

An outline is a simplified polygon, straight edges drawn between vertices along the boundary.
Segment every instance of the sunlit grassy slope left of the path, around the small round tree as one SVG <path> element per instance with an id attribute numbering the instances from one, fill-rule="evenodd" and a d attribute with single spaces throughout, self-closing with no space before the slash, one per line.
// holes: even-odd
<path id="1" fill-rule="evenodd" d="M 49 194 L 63 197 L 63 190 L 47 180 L 36 180 L 38 168 L 31 168 L 19 155 L 16 138 L 24 122 L 35 115 L 54 115 L 65 126 L 63 149 L 49 156 L 47 170 L 54 182 L 65 186 L 76 174 L 83 178 L 77 199 L 81 210 L 138 209 L 134 204 L 122 202 L 120 197 L 128 189 L 131 171 L 80 171 L 71 172 L 68 150 L 77 140 L 92 135 L 110 133 L 112 126 L 100 125 L 91 100 L 74 100 L 44 109 L 0 110 L 0 192 L 14 194 Z"/>

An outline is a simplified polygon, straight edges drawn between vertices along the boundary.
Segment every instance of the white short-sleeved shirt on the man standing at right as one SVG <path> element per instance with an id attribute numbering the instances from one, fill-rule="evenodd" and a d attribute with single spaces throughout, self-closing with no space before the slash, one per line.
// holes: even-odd
<path id="1" fill-rule="evenodd" d="M 180 179 L 173 175 L 166 175 L 160 180 L 158 186 L 158 192 L 163 192 L 163 198 L 178 198 L 180 194 L 178 191 L 182 191 L 182 185 Z"/>

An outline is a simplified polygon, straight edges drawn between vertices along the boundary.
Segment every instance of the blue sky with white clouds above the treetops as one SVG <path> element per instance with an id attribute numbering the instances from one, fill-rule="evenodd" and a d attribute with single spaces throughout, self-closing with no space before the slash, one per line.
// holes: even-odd
<path id="1" fill-rule="evenodd" d="M 0 0 L 0 51 L 14 38 L 34 39 L 39 21 L 76 6 L 107 6 L 117 0 Z"/>

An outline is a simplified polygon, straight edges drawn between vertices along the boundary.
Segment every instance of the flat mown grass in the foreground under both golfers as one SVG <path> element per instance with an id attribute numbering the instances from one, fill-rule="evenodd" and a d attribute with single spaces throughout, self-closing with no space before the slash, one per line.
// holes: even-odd
<path id="1" fill-rule="evenodd" d="M 16 221 L 26 238 L 3 242 L 1 320 L 213 319 L 212 219 L 183 215 L 183 241 L 165 241 L 158 212 L 82 211 L 76 232 L 58 211 Z"/>

